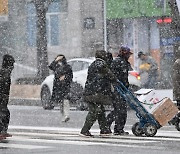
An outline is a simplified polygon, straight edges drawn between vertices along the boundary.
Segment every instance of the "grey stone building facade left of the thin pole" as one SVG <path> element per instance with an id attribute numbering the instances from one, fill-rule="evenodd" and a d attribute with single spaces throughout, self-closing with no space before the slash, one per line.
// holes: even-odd
<path id="1" fill-rule="evenodd" d="M 89 57 L 103 48 L 102 5 L 103 1 L 96 0 L 54 0 L 49 5 L 46 14 L 49 63 L 57 54 L 68 59 Z M 35 5 L 31 0 L 8 0 L 8 8 L 8 20 L 0 22 L 0 53 L 15 57 L 15 78 L 35 75 Z"/>

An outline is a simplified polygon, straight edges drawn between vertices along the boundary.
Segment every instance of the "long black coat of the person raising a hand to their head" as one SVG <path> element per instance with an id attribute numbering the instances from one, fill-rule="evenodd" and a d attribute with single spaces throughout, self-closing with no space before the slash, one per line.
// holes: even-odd
<path id="1" fill-rule="evenodd" d="M 60 102 L 64 98 L 69 99 L 70 85 L 73 79 L 72 68 L 69 64 L 62 65 L 53 61 L 49 68 L 54 71 L 53 92 L 51 101 Z M 60 77 L 65 75 L 65 79 L 60 81 Z"/>

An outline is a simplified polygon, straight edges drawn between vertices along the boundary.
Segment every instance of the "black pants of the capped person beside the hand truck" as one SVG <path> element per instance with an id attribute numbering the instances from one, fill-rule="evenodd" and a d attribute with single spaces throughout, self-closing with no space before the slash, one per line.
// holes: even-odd
<path id="1" fill-rule="evenodd" d="M 127 105 L 126 101 L 123 100 L 118 94 L 113 96 L 113 108 L 107 115 L 107 125 L 109 128 L 112 123 L 115 121 L 114 133 L 122 132 L 127 120 Z"/>

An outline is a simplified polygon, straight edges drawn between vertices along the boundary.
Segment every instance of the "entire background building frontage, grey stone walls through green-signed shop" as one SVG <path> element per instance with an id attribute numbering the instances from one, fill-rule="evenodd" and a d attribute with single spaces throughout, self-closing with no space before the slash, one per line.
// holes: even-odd
<path id="1" fill-rule="evenodd" d="M 162 2 L 106 0 L 108 51 L 116 54 L 119 46 L 127 45 L 134 52 L 131 62 L 136 69 L 139 51 L 151 53 L 160 65 L 156 19 L 163 15 Z M 46 14 L 49 63 L 60 53 L 68 59 L 89 57 L 104 48 L 103 7 L 104 0 L 54 0 L 50 4 Z M 8 0 L 8 20 L 0 21 L 0 54 L 16 58 L 15 79 L 37 73 L 36 32 L 31 0 Z"/>

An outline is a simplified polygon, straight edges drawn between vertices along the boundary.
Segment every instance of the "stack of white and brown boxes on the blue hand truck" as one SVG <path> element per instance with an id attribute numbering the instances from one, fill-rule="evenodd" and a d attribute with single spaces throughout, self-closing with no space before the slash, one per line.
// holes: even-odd
<path id="1" fill-rule="evenodd" d="M 156 90 L 140 89 L 135 94 L 146 111 L 151 113 L 161 126 L 166 125 L 179 111 L 170 98 L 164 98 Z"/>

